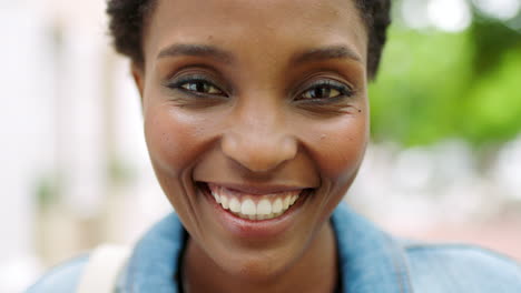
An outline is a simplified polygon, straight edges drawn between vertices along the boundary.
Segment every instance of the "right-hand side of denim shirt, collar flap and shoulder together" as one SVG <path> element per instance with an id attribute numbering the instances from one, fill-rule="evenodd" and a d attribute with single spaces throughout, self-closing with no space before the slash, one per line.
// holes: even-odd
<path id="1" fill-rule="evenodd" d="M 332 222 L 342 274 L 352 291 L 364 287 L 364 292 L 521 292 L 520 264 L 501 254 L 472 245 L 433 245 L 396 239 L 345 204 L 335 210 Z"/>

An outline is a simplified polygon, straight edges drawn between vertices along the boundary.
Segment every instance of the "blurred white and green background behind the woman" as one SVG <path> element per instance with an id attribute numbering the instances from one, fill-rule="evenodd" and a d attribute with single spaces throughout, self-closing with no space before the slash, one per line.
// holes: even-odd
<path id="1" fill-rule="evenodd" d="M 521 0 L 394 0 L 346 200 L 397 235 L 521 260 Z M 0 292 L 171 211 L 105 1 L 0 10 Z"/>

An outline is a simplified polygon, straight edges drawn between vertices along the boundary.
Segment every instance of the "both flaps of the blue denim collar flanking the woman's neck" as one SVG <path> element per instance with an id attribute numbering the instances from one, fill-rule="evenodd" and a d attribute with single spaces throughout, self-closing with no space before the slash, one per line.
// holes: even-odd
<path id="1" fill-rule="evenodd" d="M 343 291 L 412 293 L 404 252 L 387 234 L 342 203 L 332 215 Z M 136 245 L 120 280 L 124 292 L 177 293 L 186 231 L 176 214 L 157 223 Z"/>

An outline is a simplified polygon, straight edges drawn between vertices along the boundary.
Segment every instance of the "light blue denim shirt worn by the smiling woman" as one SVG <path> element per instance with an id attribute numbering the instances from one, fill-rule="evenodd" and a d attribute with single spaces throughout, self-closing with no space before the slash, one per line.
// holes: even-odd
<path id="1" fill-rule="evenodd" d="M 497 253 L 470 245 L 400 241 L 352 212 L 345 203 L 334 211 L 331 221 L 343 292 L 521 292 L 521 266 Z M 176 276 L 186 235 L 175 214 L 156 224 L 135 246 L 116 292 L 178 292 Z M 59 265 L 27 292 L 75 292 L 87 262 L 88 255 L 83 255 Z"/>

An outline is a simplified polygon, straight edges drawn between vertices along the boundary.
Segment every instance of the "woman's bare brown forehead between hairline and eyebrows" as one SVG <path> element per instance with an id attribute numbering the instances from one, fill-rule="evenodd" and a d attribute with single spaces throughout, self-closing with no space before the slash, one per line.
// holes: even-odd
<path id="1" fill-rule="evenodd" d="M 272 57 L 342 44 L 365 62 L 367 46 L 353 0 L 158 0 L 144 41 L 147 60 L 179 42 Z"/>

